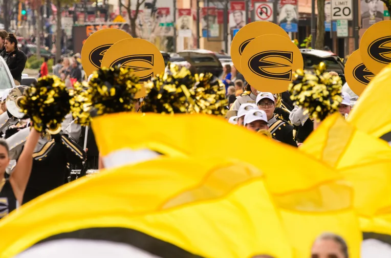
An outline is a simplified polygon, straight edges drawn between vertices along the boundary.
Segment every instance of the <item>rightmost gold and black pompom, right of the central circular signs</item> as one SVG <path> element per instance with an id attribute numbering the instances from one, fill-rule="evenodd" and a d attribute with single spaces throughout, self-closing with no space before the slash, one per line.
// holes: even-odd
<path id="1" fill-rule="evenodd" d="M 289 85 L 291 100 L 309 114 L 311 119 L 322 121 L 338 111 L 342 101 L 342 80 L 338 75 L 325 72 L 325 64 L 319 63 L 315 72 L 297 70 Z"/>

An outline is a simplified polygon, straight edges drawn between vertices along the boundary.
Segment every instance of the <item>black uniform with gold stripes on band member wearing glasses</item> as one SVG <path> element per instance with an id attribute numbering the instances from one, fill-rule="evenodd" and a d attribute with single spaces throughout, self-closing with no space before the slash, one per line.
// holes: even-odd
<path id="1" fill-rule="evenodd" d="M 272 137 L 280 142 L 297 147 L 296 141 L 293 139 L 293 125 L 287 121 L 277 119 L 275 116 L 268 121 L 269 132 Z"/>

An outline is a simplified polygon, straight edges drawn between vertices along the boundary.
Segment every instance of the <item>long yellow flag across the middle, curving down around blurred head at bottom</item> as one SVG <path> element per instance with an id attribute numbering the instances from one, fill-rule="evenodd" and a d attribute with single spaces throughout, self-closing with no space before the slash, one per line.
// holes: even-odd
<path id="1" fill-rule="evenodd" d="M 123 130 L 119 130 L 121 124 Z M 309 257 L 315 238 L 338 233 L 359 256 L 361 240 L 351 188 L 339 173 L 291 146 L 205 115 L 114 114 L 98 117 L 93 129 L 100 153 L 131 159 L 126 150 L 167 156 L 232 158 L 263 171 L 279 208 L 295 257 Z"/>

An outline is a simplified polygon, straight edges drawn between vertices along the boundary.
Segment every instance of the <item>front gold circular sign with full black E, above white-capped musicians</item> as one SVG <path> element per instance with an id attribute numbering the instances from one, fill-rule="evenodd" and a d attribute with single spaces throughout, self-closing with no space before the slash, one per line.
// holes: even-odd
<path id="1" fill-rule="evenodd" d="M 303 69 L 303 57 L 289 38 L 268 34 L 249 42 L 241 67 L 246 81 L 258 91 L 281 93 L 288 90 L 292 72 Z"/>

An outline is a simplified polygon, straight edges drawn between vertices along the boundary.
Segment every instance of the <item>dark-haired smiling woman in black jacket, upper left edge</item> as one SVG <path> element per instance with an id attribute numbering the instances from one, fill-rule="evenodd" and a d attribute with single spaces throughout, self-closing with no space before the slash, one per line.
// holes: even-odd
<path id="1" fill-rule="evenodd" d="M 17 39 L 12 33 L 8 34 L 8 37 L 6 37 L 4 47 L 6 51 L 3 51 L 1 55 L 6 60 L 15 83 L 20 85 L 21 73 L 25 70 L 26 55 L 18 49 Z"/>

